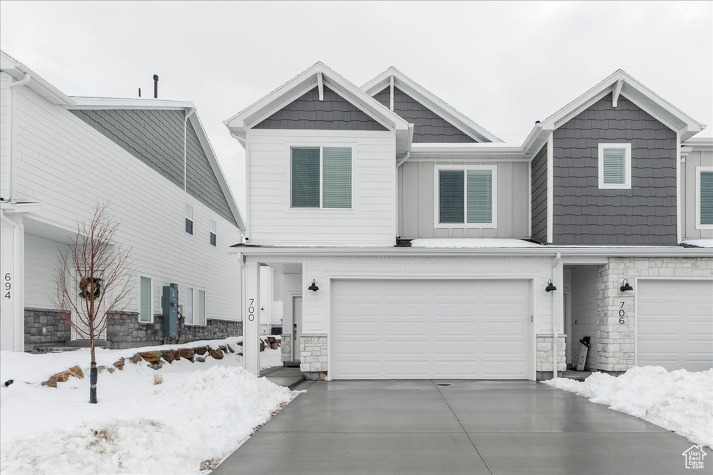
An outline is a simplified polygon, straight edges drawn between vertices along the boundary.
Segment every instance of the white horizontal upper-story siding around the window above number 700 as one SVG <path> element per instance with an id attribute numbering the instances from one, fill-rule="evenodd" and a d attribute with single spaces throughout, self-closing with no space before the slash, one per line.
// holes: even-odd
<path id="1" fill-rule="evenodd" d="M 251 129 L 247 132 L 247 143 L 250 244 L 395 244 L 394 132 Z M 291 207 L 290 147 L 293 146 L 353 147 L 352 209 Z"/>

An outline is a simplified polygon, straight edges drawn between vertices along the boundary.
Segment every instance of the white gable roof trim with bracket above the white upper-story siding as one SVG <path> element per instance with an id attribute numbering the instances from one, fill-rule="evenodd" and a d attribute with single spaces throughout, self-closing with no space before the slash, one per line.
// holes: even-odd
<path id="1" fill-rule="evenodd" d="M 391 112 L 389 108 L 381 105 L 371 95 L 364 93 L 356 85 L 342 78 L 341 75 L 322 62 L 302 71 L 287 83 L 279 86 L 264 98 L 243 109 L 240 113 L 233 115 L 232 118 L 223 123 L 228 127 L 232 136 L 237 138 L 242 145 L 245 145 L 247 130 L 269 118 L 284 106 L 292 103 L 292 101 L 302 97 L 309 90 L 314 88 L 322 90 L 325 86 L 348 100 L 349 103 L 352 103 L 363 113 L 386 127 L 386 129 L 396 132 L 397 155 L 404 155 L 410 150 L 409 129 L 412 127 L 409 127 L 409 123 L 399 115 Z"/>

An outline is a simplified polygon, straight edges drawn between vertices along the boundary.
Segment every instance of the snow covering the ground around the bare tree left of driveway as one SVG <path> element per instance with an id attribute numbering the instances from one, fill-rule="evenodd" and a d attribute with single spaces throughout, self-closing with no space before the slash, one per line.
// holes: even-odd
<path id="1" fill-rule="evenodd" d="M 227 343 L 239 351 L 240 340 L 173 348 Z M 111 367 L 122 356 L 151 349 L 97 350 L 98 365 Z M 260 353 L 262 368 L 281 364 L 279 353 L 269 348 Z M 202 462 L 212 461 L 204 466 L 214 468 L 298 394 L 250 375 L 242 356 L 230 353 L 202 363 L 181 359 L 160 370 L 127 359 L 122 371 L 101 372 L 99 403 L 88 404 L 89 362 L 88 350 L 0 352 L 0 383 L 14 380 L 0 386 L 3 474 L 201 473 Z M 73 365 L 86 377 L 41 387 Z M 154 375 L 163 377 L 160 385 L 154 385 Z"/>

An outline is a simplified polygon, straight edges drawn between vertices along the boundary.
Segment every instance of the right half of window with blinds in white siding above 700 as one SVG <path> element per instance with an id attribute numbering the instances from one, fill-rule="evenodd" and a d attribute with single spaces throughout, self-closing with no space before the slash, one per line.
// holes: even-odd
<path id="1" fill-rule="evenodd" d="M 352 149 L 324 147 L 322 149 L 322 206 L 352 207 Z"/>

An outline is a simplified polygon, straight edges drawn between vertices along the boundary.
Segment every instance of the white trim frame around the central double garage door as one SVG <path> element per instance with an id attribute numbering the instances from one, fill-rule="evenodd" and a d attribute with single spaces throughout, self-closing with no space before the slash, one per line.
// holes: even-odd
<path id="1" fill-rule="evenodd" d="M 530 368 L 528 370 L 528 379 L 529 380 L 535 380 L 535 370 L 536 370 L 536 358 L 535 358 L 535 350 L 536 350 L 536 340 L 535 340 L 535 324 L 533 323 L 534 316 L 535 316 L 535 308 L 538 308 L 537 306 L 537 292 L 535 291 L 535 283 L 537 282 L 537 276 L 533 276 L 532 274 L 529 275 L 508 275 L 508 276 L 483 276 L 482 274 L 471 274 L 471 275 L 463 275 L 459 274 L 458 276 L 453 276 L 452 274 L 437 274 L 433 275 L 431 273 L 420 273 L 420 274 L 414 274 L 414 273 L 409 273 L 408 276 L 404 276 L 403 274 L 395 274 L 395 273 L 389 273 L 389 274 L 381 274 L 381 273 L 349 273 L 349 274 L 329 274 L 327 276 L 324 276 L 324 293 L 325 296 L 324 298 L 326 299 L 327 302 L 327 380 L 332 380 L 333 376 L 333 360 L 334 360 L 334 338 L 333 331 L 332 331 L 332 323 L 334 320 L 334 307 L 333 307 L 333 298 L 332 298 L 332 286 L 334 285 L 335 281 L 346 281 L 346 280 L 366 280 L 366 281 L 379 281 L 379 280 L 394 280 L 394 281 L 408 281 L 408 280 L 417 280 L 417 281 L 468 281 L 468 280 L 475 280 L 475 281 L 526 281 L 528 283 L 528 286 L 530 287 L 530 307 L 529 307 L 529 312 L 530 312 L 530 323 L 529 323 L 529 335 L 528 335 L 528 358 L 529 358 L 529 364 L 528 367 Z"/>

